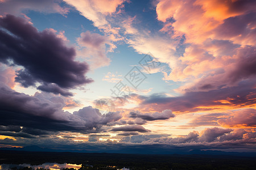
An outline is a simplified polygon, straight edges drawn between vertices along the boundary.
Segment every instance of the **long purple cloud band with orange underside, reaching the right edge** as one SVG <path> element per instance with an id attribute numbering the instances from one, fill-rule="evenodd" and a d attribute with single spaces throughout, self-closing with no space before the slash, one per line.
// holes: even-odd
<path id="1" fill-rule="evenodd" d="M 134 99 L 130 100 L 138 100 L 139 107 L 137 109 L 143 112 L 148 112 L 149 108 L 154 108 L 154 111 L 158 112 L 171 109 L 173 112 L 181 113 L 244 108 L 255 104 L 254 84 L 253 80 L 243 80 L 236 87 L 223 87 L 205 92 L 185 92 L 176 97 L 163 94 L 133 95 Z"/>

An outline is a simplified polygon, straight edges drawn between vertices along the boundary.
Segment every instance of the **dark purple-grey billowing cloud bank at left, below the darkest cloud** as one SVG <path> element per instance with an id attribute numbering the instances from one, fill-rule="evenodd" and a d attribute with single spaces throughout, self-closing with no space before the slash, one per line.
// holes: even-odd
<path id="1" fill-rule="evenodd" d="M 64 106 L 62 101 L 21 94 L 0 82 L 0 131 L 17 131 L 18 134 L 12 133 L 15 136 L 48 135 L 57 131 L 85 133 L 94 128 L 100 131 L 102 125 L 122 118 L 119 112 L 102 117 L 98 109 L 92 107 L 71 114 L 62 110 Z"/>

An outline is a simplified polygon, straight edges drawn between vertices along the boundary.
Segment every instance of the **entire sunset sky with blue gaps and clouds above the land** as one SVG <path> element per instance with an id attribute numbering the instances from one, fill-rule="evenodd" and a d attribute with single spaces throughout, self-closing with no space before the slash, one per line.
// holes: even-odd
<path id="1" fill-rule="evenodd" d="M 256 1 L 0 0 L 0 147 L 256 151 Z"/>

